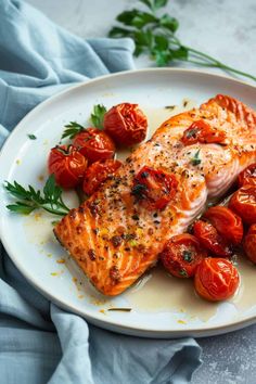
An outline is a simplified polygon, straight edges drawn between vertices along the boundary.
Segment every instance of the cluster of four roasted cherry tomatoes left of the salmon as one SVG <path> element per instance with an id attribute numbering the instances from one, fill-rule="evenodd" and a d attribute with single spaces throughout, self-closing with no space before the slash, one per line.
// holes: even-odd
<path id="1" fill-rule="evenodd" d="M 121 103 L 105 113 L 103 130 L 77 126 L 79 130 L 72 136 L 69 145 L 51 149 L 48 170 L 60 187 L 73 189 L 81 184 L 84 192 L 91 195 L 121 165 L 114 159 L 116 145 L 144 140 L 148 121 L 138 104 Z"/>

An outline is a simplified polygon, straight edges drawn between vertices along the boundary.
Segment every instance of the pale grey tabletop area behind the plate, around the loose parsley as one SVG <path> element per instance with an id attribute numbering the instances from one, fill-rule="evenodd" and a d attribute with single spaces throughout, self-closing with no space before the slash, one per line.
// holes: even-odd
<path id="1" fill-rule="evenodd" d="M 106 36 L 118 13 L 139 5 L 136 0 L 27 1 L 84 38 Z M 171 0 L 167 10 L 179 20 L 178 36 L 184 44 L 256 76 L 255 0 Z M 139 59 L 137 65 L 152 63 Z"/>

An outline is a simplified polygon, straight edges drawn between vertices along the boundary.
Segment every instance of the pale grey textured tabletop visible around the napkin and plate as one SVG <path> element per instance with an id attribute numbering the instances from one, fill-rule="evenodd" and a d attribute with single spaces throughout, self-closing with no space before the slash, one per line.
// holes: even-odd
<path id="1" fill-rule="evenodd" d="M 27 1 L 82 38 L 105 36 L 118 13 L 138 5 L 135 0 Z M 187 46 L 256 76 L 255 0 L 175 0 L 168 12 L 180 21 L 178 35 Z M 138 67 L 152 65 L 144 57 L 137 61 Z M 256 325 L 199 343 L 204 363 L 193 384 L 256 383 Z"/>

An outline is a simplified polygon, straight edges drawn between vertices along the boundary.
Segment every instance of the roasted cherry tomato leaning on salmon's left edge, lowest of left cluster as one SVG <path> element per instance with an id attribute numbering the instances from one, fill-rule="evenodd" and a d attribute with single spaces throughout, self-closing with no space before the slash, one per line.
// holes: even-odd
<path id="1" fill-rule="evenodd" d="M 120 167 L 119 161 L 106 159 L 91 164 L 85 174 L 82 189 L 89 196 L 94 193 L 103 181 Z"/>

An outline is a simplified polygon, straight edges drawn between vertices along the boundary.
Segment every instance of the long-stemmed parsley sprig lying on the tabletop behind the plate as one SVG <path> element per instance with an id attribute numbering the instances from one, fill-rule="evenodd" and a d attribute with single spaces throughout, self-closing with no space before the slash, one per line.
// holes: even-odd
<path id="1" fill-rule="evenodd" d="M 110 37 L 130 37 L 136 43 L 135 55 L 148 53 L 158 66 L 171 62 L 189 62 L 204 67 L 216 67 L 256 81 L 256 77 L 245 72 L 230 67 L 219 60 L 183 44 L 176 33 L 179 22 L 168 13 L 158 14 L 166 7 L 168 0 L 139 0 L 146 11 L 133 9 L 120 13 L 116 20 L 119 25 L 114 26 Z"/>

